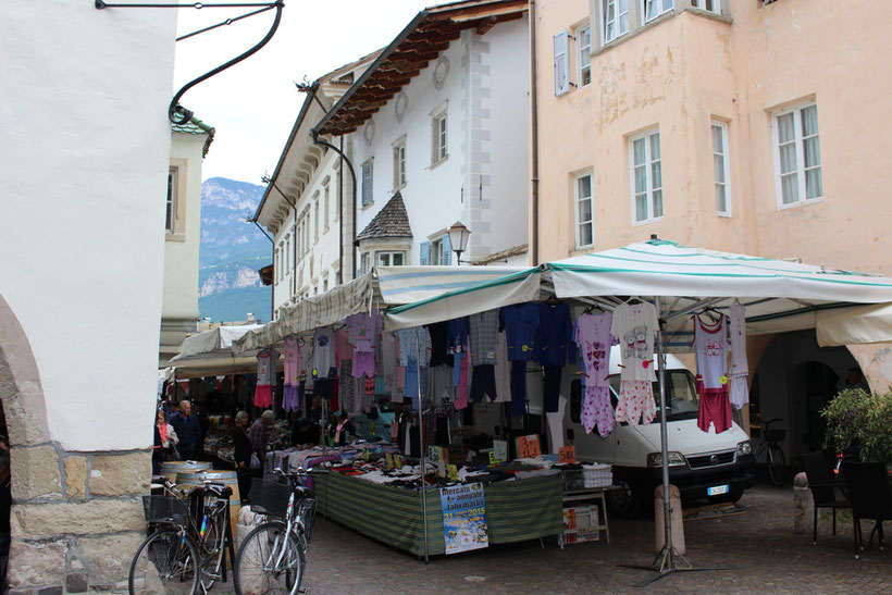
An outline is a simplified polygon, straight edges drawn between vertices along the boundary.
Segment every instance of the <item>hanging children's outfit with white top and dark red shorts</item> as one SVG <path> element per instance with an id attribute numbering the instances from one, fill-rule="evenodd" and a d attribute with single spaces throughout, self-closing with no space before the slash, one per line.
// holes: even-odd
<path id="1" fill-rule="evenodd" d="M 728 335 L 724 317 L 715 323 L 704 322 L 694 315 L 694 340 L 691 342 L 697 360 L 697 388 L 699 410 L 697 427 L 709 431 L 709 423 L 716 433 L 731 427 L 731 407 L 728 400 Z M 701 388 L 702 386 L 702 388 Z"/>

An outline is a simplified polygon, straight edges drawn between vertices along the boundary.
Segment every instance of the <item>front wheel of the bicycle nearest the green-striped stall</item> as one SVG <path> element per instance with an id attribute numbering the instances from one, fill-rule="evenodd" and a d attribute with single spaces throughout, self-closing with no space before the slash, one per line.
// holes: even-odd
<path id="1" fill-rule="evenodd" d="M 303 579 L 303 550 L 285 523 L 263 523 L 248 533 L 235 556 L 238 595 L 295 594 Z"/>

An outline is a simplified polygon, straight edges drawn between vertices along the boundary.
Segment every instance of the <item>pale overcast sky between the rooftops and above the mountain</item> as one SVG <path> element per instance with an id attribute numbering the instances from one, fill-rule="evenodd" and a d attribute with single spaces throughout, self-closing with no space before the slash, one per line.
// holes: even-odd
<path id="1" fill-rule="evenodd" d="M 230 1 L 230 0 L 223 0 Z M 223 1 L 216 0 L 218 3 Z M 256 1 L 256 0 L 249 0 Z M 216 128 L 203 178 L 260 184 L 272 174 L 303 101 L 294 86 L 389 44 L 436 0 L 286 0 L 282 23 L 258 53 L 187 91 L 181 103 Z M 178 35 L 257 9 L 179 9 Z M 176 92 L 260 41 L 275 11 L 177 41 Z"/>

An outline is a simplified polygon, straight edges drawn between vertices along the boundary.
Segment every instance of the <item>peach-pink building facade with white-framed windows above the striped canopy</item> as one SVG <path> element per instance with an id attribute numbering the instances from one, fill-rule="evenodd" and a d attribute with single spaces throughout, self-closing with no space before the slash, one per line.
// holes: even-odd
<path id="1" fill-rule="evenodd" d="M 892 275 L 891 20 L 892 3 L 870 0 L 536 2 L 531 252 L 547 261 L 656 234 Z M 814 333 L 777 340 L 802 351 L 784 360 L 805 367 L 802 384 L 825 374 L 829 391 L 833 374 L 815 361 L 837 375 L 857 361 L 874 391 L 892 384 L 889 345 L 828 355 Z M 775 348 L 751 342 L 751 373 Z M 800 372 L 775 363 L 759 369 L 763 391 L 767 375 L 788 401 L 808 401 L 789 387 Z"/>

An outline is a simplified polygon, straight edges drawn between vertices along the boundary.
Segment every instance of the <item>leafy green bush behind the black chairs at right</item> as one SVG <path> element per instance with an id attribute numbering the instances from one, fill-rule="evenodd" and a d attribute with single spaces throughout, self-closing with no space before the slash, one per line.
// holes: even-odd
<path id="1" fill-rule="evenodd" d="M 842 391 L 821 411 L 825 446 L 837 453 L 859 448 L 862 460 L 892 463 L 892 392 Z"/>

